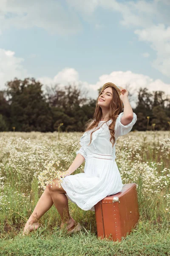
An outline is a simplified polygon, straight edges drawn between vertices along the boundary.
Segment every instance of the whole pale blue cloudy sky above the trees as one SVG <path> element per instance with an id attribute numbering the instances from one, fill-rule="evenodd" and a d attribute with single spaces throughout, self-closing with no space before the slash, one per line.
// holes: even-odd
<path id="1" fill-rule="evenodd" d="M 0 0 L 0 90 L 14 77 L 170 95 L 170 0 Z"/>

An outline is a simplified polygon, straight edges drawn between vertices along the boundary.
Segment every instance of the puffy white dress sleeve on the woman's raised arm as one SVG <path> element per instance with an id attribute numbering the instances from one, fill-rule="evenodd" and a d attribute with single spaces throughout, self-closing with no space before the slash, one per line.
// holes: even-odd
<path id="1" fill-rule="evenodd" d="M 128 125 L 123 125 L 121 123 L 122 116 L 123 116 L 123 112 L 120 113 L 116 119 L 116 125 L 115 125 L 115 136 L 116 137 L 128 134 L 128 132 L 130 132 L 132 130 L 132 127 L 136 123 L 136 120 L 137 120 L 136 113 L 133 113 L 132 121 Z"/>

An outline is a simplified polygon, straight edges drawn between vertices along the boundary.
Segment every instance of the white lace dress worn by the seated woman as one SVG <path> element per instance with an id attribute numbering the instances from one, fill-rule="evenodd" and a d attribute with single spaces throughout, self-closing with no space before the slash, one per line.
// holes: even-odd
<path id="1" fill-rule="evenodd" d="M 116 139 L 130 132 L 137 120 L 133 113 L 133 120 L 128 125 L 123 125 L 122 115 L 123 112 L 116 119 Z M 112 120 L 99 122 L 100 128 L 92 134 L 90 145 L 91 131 L 85 131 L 80 138 L 81 148 L 76 152 L 85 158 L 84 172 L 62 178 L 61 186 L 66 191 L 65 195 L 85 211 L 94 211 L 94 205 L 100 200 L 122 190 L 122 179 L 115 161 L 116 143 L 112 148 L 110 142 L 108 125 L 111 122 Z"/>

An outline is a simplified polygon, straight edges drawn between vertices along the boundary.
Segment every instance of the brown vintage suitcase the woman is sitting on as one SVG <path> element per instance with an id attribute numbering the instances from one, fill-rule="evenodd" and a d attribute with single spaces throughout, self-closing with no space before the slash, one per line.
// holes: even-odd
<path id="1" fill-rule="evenodd" d="M 105 197 L 94 208 L 97 236 L 121 241 L 139 220 L 136 183 L 124 184 L 119 193 Z"/>

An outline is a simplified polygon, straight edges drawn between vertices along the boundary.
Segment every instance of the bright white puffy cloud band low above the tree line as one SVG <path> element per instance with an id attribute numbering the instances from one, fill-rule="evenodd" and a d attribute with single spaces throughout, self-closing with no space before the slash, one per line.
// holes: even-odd
<path id="1" fill-rule="evenodd" d="M 14 77 L 17 77 L 18 79 L 32 77 L 22 65 L 24 59 L 15 57 L 14 55 L 15 52 L 13 51 L 0 49 L 0 90 L 5 89 L 4 84 L 7 81 L 13 80 Z M 149 91 L 163 90 L 166 95 L 170 95 L 170 84 L 165 84 L 159 79 L 153 80 L 149 76 L 132 73 L 131 71 L 113 71 L 110 74 L 103 74 L 95 84 L 89 84 L 88 81 L 81 81 L 77 70 L 69 67 L 65 67 L 59 71 L 54 78 L 46 76 L 35 79 L 43 84 L 42 90 L 44 91 L 45 85 L 59 84 L 60 87 L 63 87 L 68 85 L 68 83 L 71 83 L 82 89 L 82 91 L 87 91 L 87 96 L 92 99 L 97 98 L 98 89 L 102 87 L 103 84 L 111 81 L 118 86 L 127 88 L 127 90 L 133 94 L 133 102 L 131 102 L 133 108 L 135 108 L 139 87 L 147 87 Z"/>

